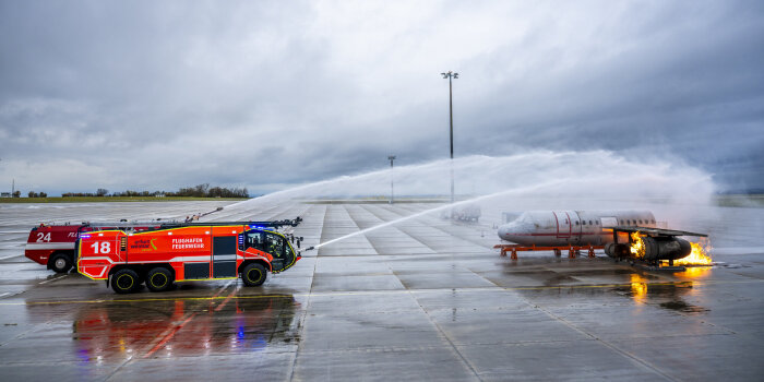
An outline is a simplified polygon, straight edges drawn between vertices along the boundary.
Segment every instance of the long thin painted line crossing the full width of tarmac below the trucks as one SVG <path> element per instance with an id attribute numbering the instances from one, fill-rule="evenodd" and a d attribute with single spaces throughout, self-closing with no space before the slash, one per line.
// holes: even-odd
<path id="1" fill-rule="evenodd" d="M 61 277 L 59 277 L 60 279 Z M 699 280 L 680 280 L 680 282 L 660 282 L 660 283 L 644 283 L 647 286 L 687 286 L 697 287 L 718 284 L 751 284 L 764 283 L 764 279 L 751 278 L 748 280 L 719 280 L 719 282 L 699 282 Z M 584 288 L 624 288 L 631 287 L 631 283 L 624 284 L 597 284 L 597 285 L 560 285 L 560 286 L 529 286 L 529 287 L 478 287 L 478 288 L 433 288 L 433 289 L 386 289 L 386 290 L 357 290 L 357 291 L 308 291 L 295 294 L 268 294 L 268 295 L 249 295 L 235 296 L 231 299 L 247 300 L 260 298 L 274 298 L 288 296 L 367 296 L 367 295 L 390 295 L 390 294 L 425 294 L 425 293 L 442 293 L 450 291 L 491 291 L 491 290 L 550 290 L 550 289 L 584 289 Z M 143 302 L 143 301 L 203 301 L 226 299 L 227 296 L 206 296 L 206 297 L 167 297 L 167 298 L 136 298 L 136 299 L 94 299 L 94 300 L 57 300 L 57 301 L 25 301 L 25 302 L 0 302 L 0 306 L 25 306 L 25 305 L 64 305 L 64 303 L 104 303 L 104 302 Z"/>

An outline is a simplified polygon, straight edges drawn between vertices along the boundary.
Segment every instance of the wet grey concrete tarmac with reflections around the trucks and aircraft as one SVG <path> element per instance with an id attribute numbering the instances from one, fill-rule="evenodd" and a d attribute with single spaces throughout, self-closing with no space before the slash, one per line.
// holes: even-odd
<path id="1" fill-rule="evenodd" d="M 182 218 L 230 202 L 0 204 L 3 381 L 761 380 L 764 210 L 723 208 L 715 260 L 646 272 L 550 252 L 513 261 L 490 222 L 423 216 L 303 252 L 262 286 L 182 283 L 115 295 L 23 256 L 40 220 Z M 303 217 L 302 248 L 431 204 L 224 210 Z M 712 216 L 712 215 L 709 215 Z M 718 218 L 718 214 L 713 215 Z M 735 239 L 727 225 L 741 224 Z M 711 217 L 709 217 L 711 218 Z M 714 220 L 716 222 L 716 220 Z M 717 224 L 717 223 L 714 223 Z M 736 243 L 740 244 L 736 244 Z M 318 252 L 318 253 L 317 253 Z"/>

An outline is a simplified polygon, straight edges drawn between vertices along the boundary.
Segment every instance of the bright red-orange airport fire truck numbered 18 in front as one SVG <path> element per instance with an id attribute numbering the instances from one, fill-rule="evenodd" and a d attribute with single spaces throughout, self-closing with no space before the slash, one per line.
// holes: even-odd
<path id="1" fill-rule="evenodd" d="M 284 234 L 256 223 L 100 230 L 82 234 L 77 241 L 77 271 L 106 280 L 118 294 L 136 291 L 144 282 L 151 291 L 168 290 L 175 282 L 237 277 L 259 286 L 267 272 L 284 272 L 298 260 Z"/>

